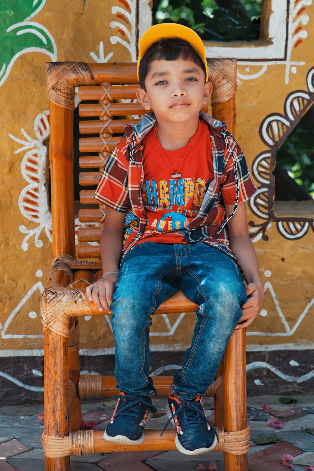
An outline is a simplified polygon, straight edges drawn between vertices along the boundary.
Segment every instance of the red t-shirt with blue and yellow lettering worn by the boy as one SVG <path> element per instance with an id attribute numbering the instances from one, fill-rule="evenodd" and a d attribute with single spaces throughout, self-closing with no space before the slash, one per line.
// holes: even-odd
<path id="1" fill-rule="evenodd" d="M 162 149 L 172 170 L 176 172 L 188 148 L 178 172 L 180 177 L 171 178 L 173 172 L 161 152 L 156 125 L 145 136 L 143 146 L 142 201 L 147 224 L 138 243 L 187 244 L 185 227 L 198 214 L 209 182 L 214 178 L 207 123 L 199 120 L 198 129 L 190 143 L 181 149 Z"/>

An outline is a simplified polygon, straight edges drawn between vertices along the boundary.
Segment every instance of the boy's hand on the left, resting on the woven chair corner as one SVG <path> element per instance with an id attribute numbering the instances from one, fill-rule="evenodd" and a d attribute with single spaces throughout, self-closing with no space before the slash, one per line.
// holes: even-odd
<path id="1" fill-rule="evenodd" d="M 94 301 L 95 306 L 108 314 L 112 314 L 110 303 L 113 302 L 114 286 L 117 283 L 118 275 L 111 273 L 104 278 L 97 280 L 86 288 L 86 297 L 89 301 Z"/>

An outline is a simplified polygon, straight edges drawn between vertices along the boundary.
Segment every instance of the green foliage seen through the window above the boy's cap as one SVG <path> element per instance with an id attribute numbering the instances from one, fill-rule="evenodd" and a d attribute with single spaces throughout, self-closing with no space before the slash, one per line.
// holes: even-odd
<path id="1" fill-rule="evenodd" d="M 184 24 L 204 41 L 252 41 L 259 36 L 261 0 L 219 7 L 219 1 L 154 0 L 153 23 Z M 231 2 L 230 2 L 231 3 Z"/>

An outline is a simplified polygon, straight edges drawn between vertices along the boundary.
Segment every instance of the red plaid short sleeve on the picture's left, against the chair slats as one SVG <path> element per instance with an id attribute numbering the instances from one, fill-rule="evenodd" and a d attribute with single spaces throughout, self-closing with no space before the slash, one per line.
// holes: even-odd
<path id="1" fill-rule="evenodd" d="M 94 198 L 115 211 L 127 212 L 130 206 L 128 189 L 128 161 L 125 157 L 129 144 L 124 137 L 110 154 Z"/>

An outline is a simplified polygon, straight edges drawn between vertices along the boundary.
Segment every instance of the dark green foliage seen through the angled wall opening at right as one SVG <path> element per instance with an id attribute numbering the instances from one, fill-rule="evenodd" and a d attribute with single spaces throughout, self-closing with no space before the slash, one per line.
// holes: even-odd
<path id="1" fill-rule="evenodd" d="M 313 107 L 277 151 L 276 162 L 314 199 Z"/>

